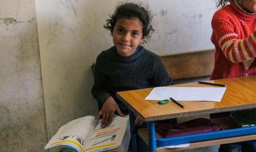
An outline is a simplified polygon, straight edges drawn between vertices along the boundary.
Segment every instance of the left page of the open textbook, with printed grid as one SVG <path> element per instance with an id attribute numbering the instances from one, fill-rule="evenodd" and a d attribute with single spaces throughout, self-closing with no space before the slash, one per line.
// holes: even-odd
<path id="1" fill-rule="evenodd" d="M 61 126 L 44 149 L 46 150 L 54 146 L 67 145 L 73 147 L 78 152 L 82 151 L 82 147 L 89 137 L 90 132 L 92 132 L 96 125 L 97 121 L 94 120 L 94 118 L 94 116 L 84 116 Z"/>

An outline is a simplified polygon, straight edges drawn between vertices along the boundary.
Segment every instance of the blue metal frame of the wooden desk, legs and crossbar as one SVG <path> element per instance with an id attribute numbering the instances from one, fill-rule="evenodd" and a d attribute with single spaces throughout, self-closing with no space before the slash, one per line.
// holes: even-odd
<path id="1" fill-rule="evenodd" d="M 129 110 L 129 117 L 130 117 L 132 152 L 137 152 L 134 113 L 131 110 Z M 228 130 L 214 131 L 214 132 L 207 132 L 207 133 L 199 133 L 199 134 L 192 134 L 192 135 L 185 135 L 185 136 L 178 136 L 178 137 L 170 137 L 170 138 L 155 138 L 155 123 L 154 121 L 148 122 L 150 152 L 155 152 L 157 147 L 166 146 L 166 145 L 182 144 L 182 143 L 188 143 L 188 142 L 226 138 L 226 137 L 248 135 L 248 134 L 254 134 L 254 133 L 256 133 L 256 126 L 235 128 L 235 129 L 228 129 Z"/>

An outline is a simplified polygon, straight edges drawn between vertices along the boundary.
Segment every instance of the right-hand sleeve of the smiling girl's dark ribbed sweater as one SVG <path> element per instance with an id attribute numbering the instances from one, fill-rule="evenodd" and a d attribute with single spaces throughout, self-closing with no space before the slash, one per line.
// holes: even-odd
<path id="1" fill-rule="evenodd" d="M 173 79 L 169 76 L 160 56 L 157 56 L 154 63 L 153 85 L 155 87 L 173 85 Z"/>

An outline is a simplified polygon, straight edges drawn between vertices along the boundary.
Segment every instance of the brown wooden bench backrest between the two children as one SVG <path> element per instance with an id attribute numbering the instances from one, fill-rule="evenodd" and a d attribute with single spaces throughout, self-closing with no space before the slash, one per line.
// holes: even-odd
<path id="1" fill-rule="evenodd" d="M 174 80 L 211 75 L 215 49 L 160 55 Z"/>

